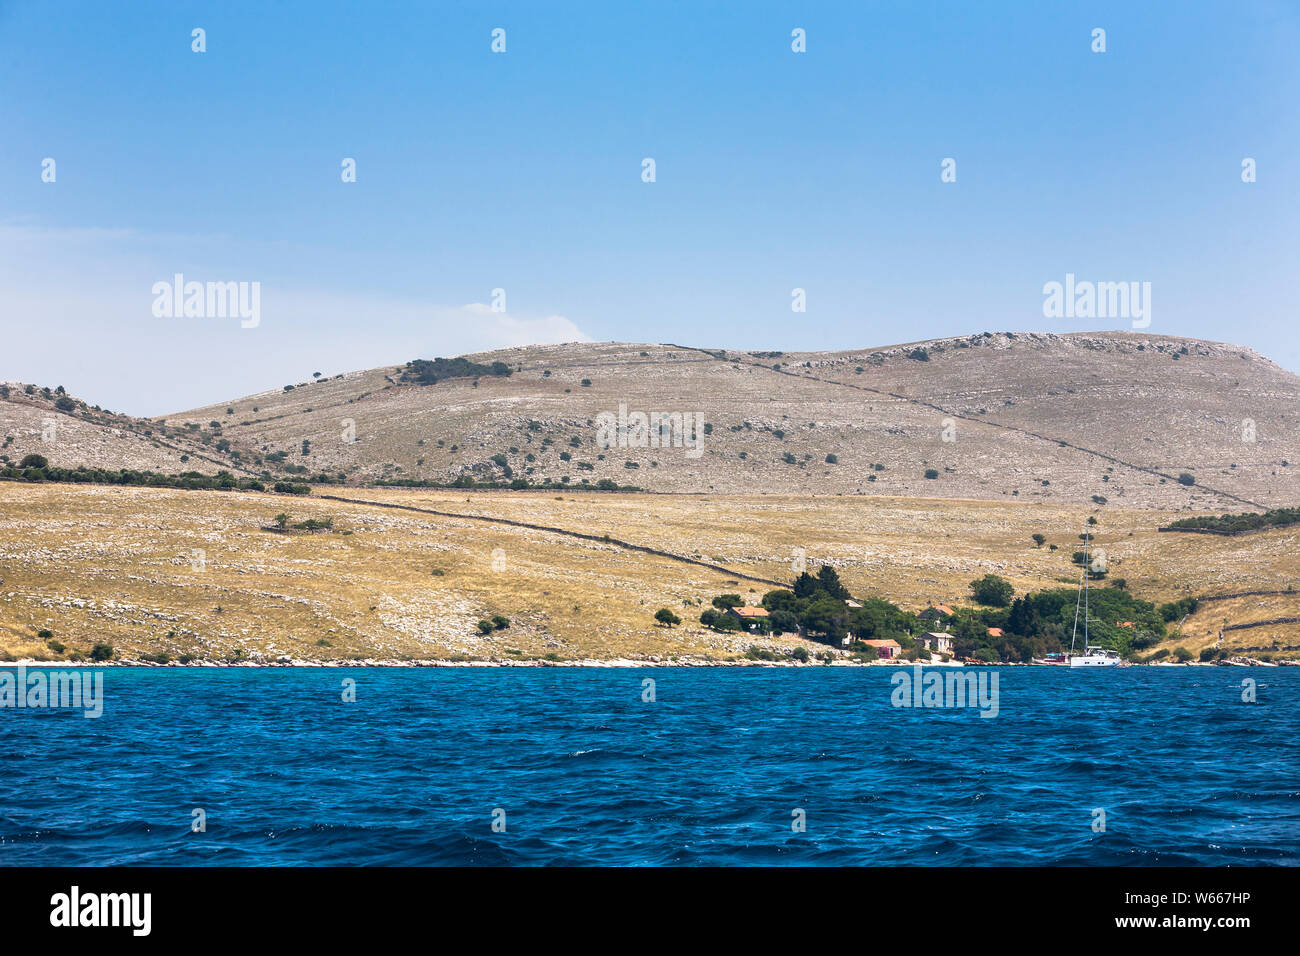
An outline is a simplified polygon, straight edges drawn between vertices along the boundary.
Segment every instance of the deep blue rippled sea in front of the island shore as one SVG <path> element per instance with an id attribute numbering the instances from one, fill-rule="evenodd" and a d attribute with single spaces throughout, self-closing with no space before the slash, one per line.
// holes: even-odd
<path id="1" fill-rule="evenodd" d="M 1300 862 L 1300 669 L 971 670 L 104 669 L 0 709 L 0 865 Z"/>

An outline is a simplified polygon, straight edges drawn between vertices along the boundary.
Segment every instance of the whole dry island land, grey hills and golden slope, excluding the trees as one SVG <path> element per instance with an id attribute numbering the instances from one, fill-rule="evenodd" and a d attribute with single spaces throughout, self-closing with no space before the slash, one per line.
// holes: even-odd
<path id="1" fill-rule="evenodd" d="M 1089 515 L 1132 593 L 1221 598 L 1166 650 L 1300 656 L 1300 528 L 1158 531 L 1300 498 L 1300 378 L 1249 350 L 982 333 L 849 352 L 581 343 L 467 359 L 307 373 L 161 419 L 4 384 L 0 464 L 39 454 L 313 484 L 300 497 L 0 483 L 0 657 L 69 659 L 103 641 L 118 658 L 226 663 L 724 661 L 801 641 L 698 624 L 712 596 L 754 601 L 796 561 L 915 610 L 966 601 L 989 572 L 1018 592 L 1074 585 Z M 419 384 L 421 368 L 437 375 Z M 699 441 L 647 447 L 633 429 L 620 445 L 602 425 L 633 412 L 698 420 Z M 528 490 L 378 485 L 456 480 Z M 280 511 L 325 525 L 277 531 Z M 656 627 L 662 606 L 685 623 Z M 510 626 L 484 632 L 493 615 Z"/>

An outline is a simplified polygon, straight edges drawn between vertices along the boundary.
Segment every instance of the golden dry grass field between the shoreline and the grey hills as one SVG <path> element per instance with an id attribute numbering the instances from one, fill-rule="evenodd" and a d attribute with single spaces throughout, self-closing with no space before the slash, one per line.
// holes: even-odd
<path id="1" fill-rule="evenodd" d="M 0 652 L 66 659 L 103 641 L 122 659 L 724 659 L 751 644 L 802 643 L 698 624 L 715 594 L 757 601 L 770 585 L 472 516 L 608 535 L 776 580 L 793 576 L 802 549 L 810 568 L 832 563 L 855 594 L 913 609 L 966 602 L 985 572 L 1017 592 L 1076 584 L 1070 553 L 1087 518 L 1053 505 L 887 497 L 337 493 L 458 516 L 316 497 L 0 483 Z M 330 518 L 334 529 L 263 529 L 280 511 Z M 1297 529 L 1171 535 L 1156 528 L 1173 512 L 1097 515 L 1095 548 L 1139 597 L 1295 587 Z M 1035 532 L 1058 550 L 1036 548 Z M 663 606 L 685 623 L 656 627 Z M 493 614 L 511 626 L 481 636 L 476 622 Z M 1300 617 L 1295 596 L 1205 604 L 1165 646 L 1199 652 L 1225 622 L 1286 617 Z M 42 630 L 66 650 L 51 650 Z M 1231 631 L 1223 646 L 1297 644 L 1300 627 L 1279 624 Z"/>

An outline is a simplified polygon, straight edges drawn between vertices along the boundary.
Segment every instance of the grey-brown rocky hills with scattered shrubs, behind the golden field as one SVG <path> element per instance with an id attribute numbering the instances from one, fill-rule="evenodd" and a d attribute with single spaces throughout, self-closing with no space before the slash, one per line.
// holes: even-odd
<path id="1" fill-rule="evenodd" d="M 1213 512 L 1294 505 L 1300 492 L 1300 377 L 1216 342 L 980 333 L 841 352 L 573 343 L 464 358 L 295 377 L 152 421 L 60 411 L 10 386 L 4 454 L 350 484 L 608 480 Z M 602 428 L 620 407 L 621 442 Z M 699 442 L 688 431 L 644 446 L 633 412 L 699 421 Z M 68 421 L 40 442 L 51 415 Z"/>

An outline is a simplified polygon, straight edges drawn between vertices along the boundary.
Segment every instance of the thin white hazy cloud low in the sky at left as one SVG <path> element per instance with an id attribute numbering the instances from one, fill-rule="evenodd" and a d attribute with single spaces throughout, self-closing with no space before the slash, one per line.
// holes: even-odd
<path id="1" fill-rule="evenodd" d="M 0 380 L 64 385 L 91 403 L 162 415 L 302 380 L 416 358 L 590 341 L 562 315 L 493 312 L 294 284 L 238 263 L 265 258 L 143 250 L 129 230 L 0 226 Z M 254 243 L 255 246 L 256 243 Z M 237 319 L 160 319 L 152 285 L 259 281 L 257 328 Z"/>

